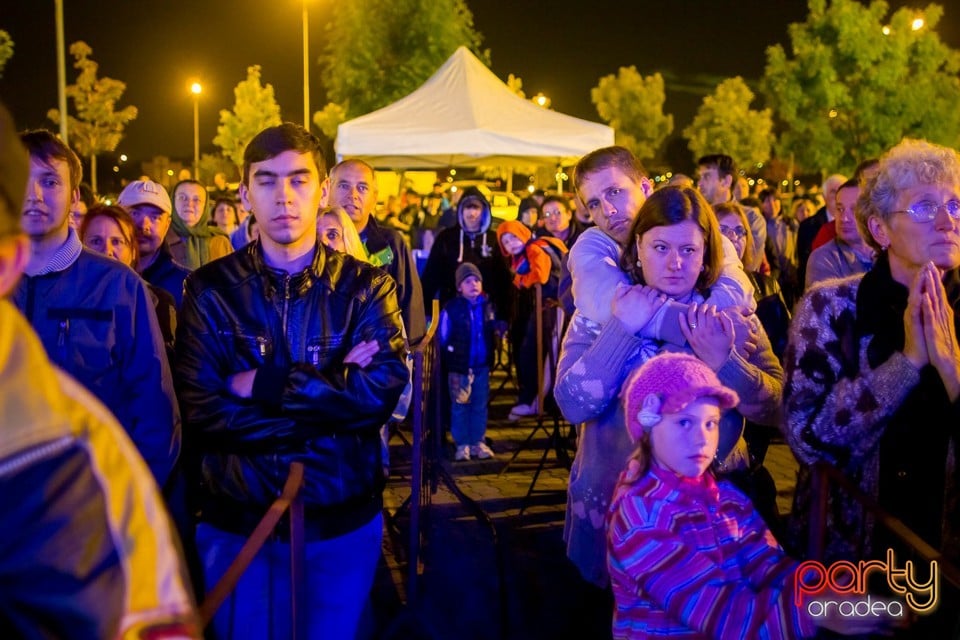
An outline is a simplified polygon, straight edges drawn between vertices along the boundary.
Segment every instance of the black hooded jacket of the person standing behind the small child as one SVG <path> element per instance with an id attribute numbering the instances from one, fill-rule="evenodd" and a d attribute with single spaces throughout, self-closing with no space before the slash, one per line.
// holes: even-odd
<path id="1" fill-rule="evenodd" d="M 468 197 L 483 201 L 484 212 L 480 230 L 469 233 L 463 228 L 462 205 Z M 483 289 L 493 301 L 498 320 L 509 320 L 512 312 L 513 274 L 506 259 L 500 255 L 497 234 L 491 230 L 490 203 L 476 187 L 467 187 L 457 206 L 459 222 L 437 234 L 430 257 L 423 268 L 423 297 L 440 300 L 443 307 L 457 295 L 454 275 L 461 262 L 477 265 L 483 276 Z"/>

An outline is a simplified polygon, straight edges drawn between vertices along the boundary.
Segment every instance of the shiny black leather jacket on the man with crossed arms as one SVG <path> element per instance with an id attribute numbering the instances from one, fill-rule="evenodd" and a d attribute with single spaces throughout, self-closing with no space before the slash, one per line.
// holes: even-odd
<path id="1" fill-rule="evenodd" d="M 372 339 L 373 362 L 343 365 Z M 379 429 L 408 379 L 404 349 L 393 279 L 320 244 L 297 274 L 267 267 L 253 242 L 188 276 L 175 370 L 201 520 L 249 534 L 299 461 L 308 538 L 368 522 L 381 506 Z M 251 369 L 253 398 L 231 394 L 227 378 Z"/>

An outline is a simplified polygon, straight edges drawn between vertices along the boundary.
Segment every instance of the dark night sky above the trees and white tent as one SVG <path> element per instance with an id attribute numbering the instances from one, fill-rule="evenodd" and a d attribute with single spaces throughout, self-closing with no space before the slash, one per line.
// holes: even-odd
<path id="1" fill-rule="evenodd" d="M 311 0 L 313 59 L 322 50 L 330 1 Z M 666 77 L 666 111 L 674 114 L 675 132 L 686 126 L 703 91 L 712 90 L 718 80 L 759 78 L 766 48 L 786 44 L 787 25 L 806 16 L 805 0 L 467 4 L 483 46 L 491 51 L 494 73 L 501 79 L 509 73 L 520 76 L 528 96 L 543 92 L 557 111 L 599 121 L 590 89 L 620 66 L 636 65 L 645 75 L 660 71 Z M 189 85 L 194 79 L 204 88 L 201 152 L 213 152 L 218 112 L 233 106 L 233 87 L 252 64 L 260 64 L 263 81 L 274 86 L 284 119 L 303 119 L 300 0 L 163 0 L 148 5 L 66 0 L 64 5 L 67 45 L 86 41 L 100 75 L 127 83 L 119 106 L 140 109 L 117 150 L 132 161 L 157 154 L 192 156 Z M 960 48 L 960 7 L 947 5 L 938 31 Z M 53 1 L 4 2 L 0 29 L 10 33 L 15 46 L 0 79 L 0 97 L 21 128 L 56 129 L 46 118 L 57 102 Z M 75 78 L 71 64 L 68 54 L 68 83 Z M 319 67 L 310 74 L 310 107 L 317 111 L 326 102 Z"/>

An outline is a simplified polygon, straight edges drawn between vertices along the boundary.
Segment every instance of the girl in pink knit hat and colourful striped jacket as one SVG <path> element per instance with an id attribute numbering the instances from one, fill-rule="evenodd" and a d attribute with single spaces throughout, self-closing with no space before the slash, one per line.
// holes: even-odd
<path id="1" fill-rule="evenodd" d="M 808 638 L 818 626 L 869 633 L 896 622 L 815 617 L 809 598 L 795 602 L 801 565 L 750 500 L 710 470 L 720 414 L 739 398 L 702 360 L 654 356 L 622 398 L 638 446 L 609 514 L 614 638 Z M 836 597 L 816 597 L 824 595 Z"/>

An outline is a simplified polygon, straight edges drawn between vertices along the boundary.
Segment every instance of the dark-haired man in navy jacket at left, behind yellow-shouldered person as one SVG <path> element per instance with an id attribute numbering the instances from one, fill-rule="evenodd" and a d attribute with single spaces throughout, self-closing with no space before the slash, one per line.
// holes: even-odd
<path id="1" fill-rule="evenodd" d="M 21 140 L 30 152 L 21 225 L 32 255 L 13 302 L 50 359 L 113 412 L 163 486 L 180 451 L 180 415 L 146 284 L 84 249 L 69 226 L 79 197 L 76 154 L 49 131 Z"/>

